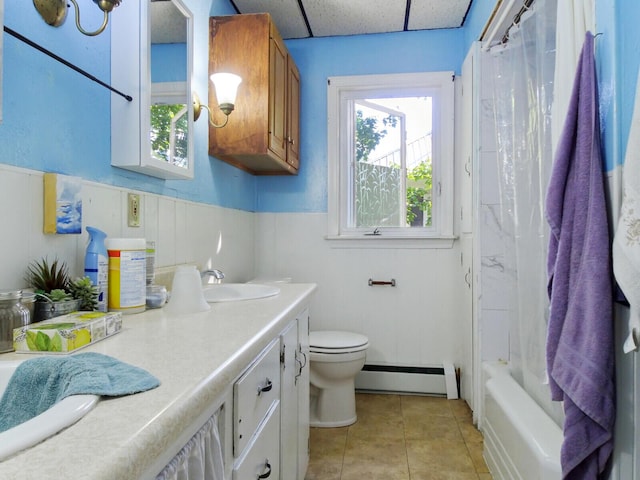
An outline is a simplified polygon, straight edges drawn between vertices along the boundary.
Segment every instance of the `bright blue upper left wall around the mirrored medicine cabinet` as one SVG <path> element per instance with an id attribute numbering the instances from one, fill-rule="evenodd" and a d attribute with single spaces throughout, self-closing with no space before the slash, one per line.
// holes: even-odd
<path id="1" fill-rule="evenodd" d="M 206 59 L 209 15 L 230 14 L 233 10 L 227 0 L 186 3 L 196 17 L 196 58 Z M 96 37 L 86 37 L 76 30 L 73 12 L 63 26 L 50 27 L 27 1 L 5 2 L 4 9 L 7 27 L 109 83 L 109 29 Z M 116 8 L 113 15 L 117 14 Z M 101 21 L 102 14 L 95 5 L 84 5 L 85 28 Z M 188 200 L 255 209 L 255 178 L 209 158 L 206 122 L 196 125 L 193 181 L 161 180 L 111 167 L 112 94 L 6 33 L 3 40 L 0 162 Z M 194 85 L 201 97 L 206 97 L 208 88 L 207 69 L 206 61 L 196 62 Z"/>

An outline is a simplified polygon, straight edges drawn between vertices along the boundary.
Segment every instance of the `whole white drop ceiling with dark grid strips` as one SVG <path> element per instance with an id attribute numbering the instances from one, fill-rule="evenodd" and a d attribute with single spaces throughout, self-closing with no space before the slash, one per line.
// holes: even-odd
<path id="1" fill-rule="evenodd" d="M 458 28 L 473 0 L 231 0 L 271 14 L 284 39 Z"/>

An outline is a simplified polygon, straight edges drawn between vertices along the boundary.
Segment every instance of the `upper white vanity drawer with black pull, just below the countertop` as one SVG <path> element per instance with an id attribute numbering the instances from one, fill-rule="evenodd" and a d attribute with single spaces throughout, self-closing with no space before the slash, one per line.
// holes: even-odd
<path id="1" fill-rule="evenodd" d="M 233 386 L 233 451 L 239 456 L 280 398 L 280 342 L 275 339 Z"/>

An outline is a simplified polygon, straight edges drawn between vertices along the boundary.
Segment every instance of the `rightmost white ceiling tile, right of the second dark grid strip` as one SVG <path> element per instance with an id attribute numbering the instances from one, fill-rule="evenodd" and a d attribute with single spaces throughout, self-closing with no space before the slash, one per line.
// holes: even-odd
<path id="1" fill-rule="evenodd" d="M 470 0 L 412 0 L 409 30 L 462 26 Z"/>

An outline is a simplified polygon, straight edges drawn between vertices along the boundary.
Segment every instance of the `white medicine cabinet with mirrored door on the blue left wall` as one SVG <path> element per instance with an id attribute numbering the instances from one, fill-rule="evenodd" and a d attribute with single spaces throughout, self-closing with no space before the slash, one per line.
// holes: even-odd
<path id="1" fill-rule="evenodd" d="M 123 8 L 126 7 L 126 12 Z M 193 178 L 193 17 L 180 0 L 123 2 L 111 19 L 111 164 Z"/>

